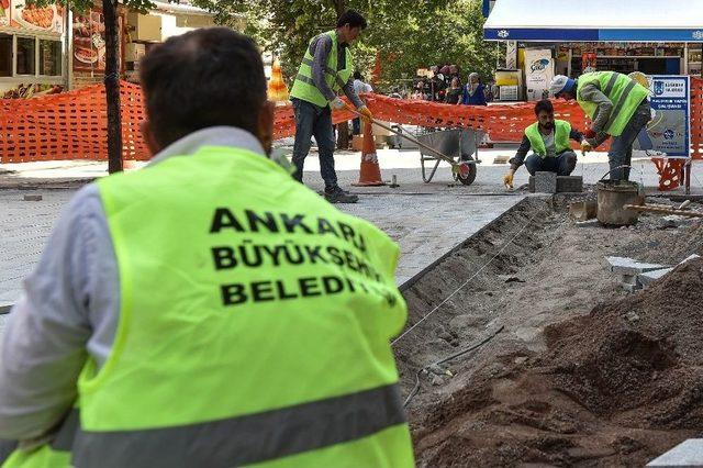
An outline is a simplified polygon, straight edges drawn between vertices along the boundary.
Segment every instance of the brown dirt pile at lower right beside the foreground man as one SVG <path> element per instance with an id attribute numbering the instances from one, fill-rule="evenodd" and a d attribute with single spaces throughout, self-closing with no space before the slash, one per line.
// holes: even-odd
<path id="1" fill-rule="evenodd" d="M 703 431 L 703 259 L 545 331 L 416 430 L 421 466 L 643 466 Z M 488 370 L 488 367 L 487 369 Z"/>

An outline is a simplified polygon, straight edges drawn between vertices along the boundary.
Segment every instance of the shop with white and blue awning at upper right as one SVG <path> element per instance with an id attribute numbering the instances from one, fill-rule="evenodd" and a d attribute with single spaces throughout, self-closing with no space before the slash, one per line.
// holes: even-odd
<path id="1" fill-rule="evenodd" d="M 578 77 L 584 70 L 701 75 L 703 0 L 496 0 L 486 4 L 490 14 L 484 36 L 507 42 L 506 65 L 522 70 L 525 97 L 534 98 L 545 89 L 539 88 L 540 79 L 532 81 L 536 89 L 529 88 L 535 63 L 525 56 L 536 51 L 540 60 L 550 62 L 544 75 Z"/>

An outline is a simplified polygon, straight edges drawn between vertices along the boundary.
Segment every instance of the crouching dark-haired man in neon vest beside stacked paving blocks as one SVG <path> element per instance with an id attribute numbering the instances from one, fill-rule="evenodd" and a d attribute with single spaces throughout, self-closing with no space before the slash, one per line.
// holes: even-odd
<path id="1" fill-rule="evenodd" d="M 570 175 L 576 167 L 577 157 L 569 140 L 581 143 L 583 152 L 591 149 L 583 135 L 571 129 L 569 122 L 555 120 L 551 101 L 545 99 L 537 102 L 535 115 L 537 122 L 525 129 L 520 148 L 510 160 L 510 170 L 503 176 L 503 183 L 507 187 L 513 187 L 515 171 L 523 163 L 533 176 L 538 171 L 557 172 L 558 176 Z M 531 149 L 533 154 L 525 159 Z"/>

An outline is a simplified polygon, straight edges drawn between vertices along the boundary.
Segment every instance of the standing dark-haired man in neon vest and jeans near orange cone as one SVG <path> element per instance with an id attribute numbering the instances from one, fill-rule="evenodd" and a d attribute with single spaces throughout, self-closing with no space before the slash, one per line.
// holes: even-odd
<path id="1" fill-rule="evenodd" d="M 335 137 L 332 109 L 344 109 L 344 101 L 337 97 L 344 91 L 362 115 L 371 118 L 371 112 L 354 90 L 354 60 L 349 52 L 349 44 L 366 25 L 366 19 L 359 12 L 348 10 L 337 20 L 336 30 L 313 37 L 290 90 L 295 116 L 294 177 L 302 182 L 303 165 L 310 152 L 310 138 L 314 136 L 320 154 L 320 175 L 325 182 L 324 196 L 331 203 L 356 203 L 359 199 L 356 194 L 343 190 L 337 183 L 334 169 Z"/>

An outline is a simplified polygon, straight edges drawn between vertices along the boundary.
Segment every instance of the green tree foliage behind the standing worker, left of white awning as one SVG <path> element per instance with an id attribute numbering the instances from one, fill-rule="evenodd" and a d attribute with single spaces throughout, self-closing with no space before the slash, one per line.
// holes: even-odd
<path id="1" fill-rule="evenodd" d="M 370 77 L 376 54 L 386 83 L 412 78 L 432 65 L 456 64 L 462 79 L 470 71 L 488 78 L 498 49 L 483 41 L 480 0 L 200 0 L 221 24 L 246 24 L 243 31 L 268 51 L 280 54 L 283 74 L 297 73 L 314 35 L 334 29 L 347 8 L 360 11 L 369 27 L 354 45 L 358 68 Z"/>

